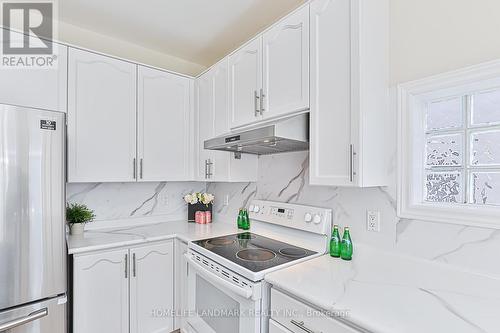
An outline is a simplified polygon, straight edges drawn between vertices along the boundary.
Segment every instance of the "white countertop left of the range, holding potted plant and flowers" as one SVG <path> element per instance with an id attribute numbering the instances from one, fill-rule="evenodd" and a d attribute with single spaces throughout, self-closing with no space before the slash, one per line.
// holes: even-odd
<path id="1" fill-rule="evenodd" d="M 170 221 L 110 229 L 87 230 L 83 235 L 68 235 L 68 253 L 77 254 L 116 247 L 179 238 L 185 242 L 238 232 L 236 223 L 196 224 Z"/>

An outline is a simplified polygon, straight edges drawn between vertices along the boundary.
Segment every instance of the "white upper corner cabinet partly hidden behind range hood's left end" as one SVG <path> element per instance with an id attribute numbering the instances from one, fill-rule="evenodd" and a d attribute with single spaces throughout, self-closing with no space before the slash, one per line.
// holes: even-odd
<path id="1" fill-rule="evenodd" d="M 223 59 L 197 79 L 198 99 L 198 180 L 254 181 L 257 179 L 255 155 L 204 149 L 204 141 L 229 131 L 228 61 Z"/>

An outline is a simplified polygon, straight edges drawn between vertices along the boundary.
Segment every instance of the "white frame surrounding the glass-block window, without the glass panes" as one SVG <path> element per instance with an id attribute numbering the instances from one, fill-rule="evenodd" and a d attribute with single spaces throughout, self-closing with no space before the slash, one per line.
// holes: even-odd
<path id="1" fill-rule="evenodd" d="M 423 202 L 422 184 L 427 103 L 493 87 L 500 88 L 500 60 L 398 86 L 397 197 L 400 218 L 500 229 L 500 207 Z M 467 158 L 464 156 L 464 163 Z M 466 178 L 465 182 L 468 181 Z"/>

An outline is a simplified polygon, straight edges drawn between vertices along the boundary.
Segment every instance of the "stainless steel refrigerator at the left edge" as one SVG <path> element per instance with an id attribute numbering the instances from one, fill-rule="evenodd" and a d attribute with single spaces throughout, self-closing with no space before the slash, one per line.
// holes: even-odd
<path id="1" fill-rule="evenodd" d="M 0 104 L 0 332 L 66 332 L 65 115 Z"/>

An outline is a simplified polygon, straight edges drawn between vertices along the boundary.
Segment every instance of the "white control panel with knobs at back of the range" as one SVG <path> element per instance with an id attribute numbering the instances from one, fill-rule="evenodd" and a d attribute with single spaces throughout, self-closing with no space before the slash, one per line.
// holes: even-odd
<path id="1" fill-rule="evenodd" d="M 253 200 L 248 212 L 255 220 L 318 234 L 329 234 L 332 224 L 332 210 L 328 208 Z"/>

